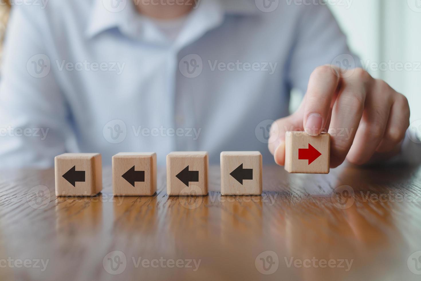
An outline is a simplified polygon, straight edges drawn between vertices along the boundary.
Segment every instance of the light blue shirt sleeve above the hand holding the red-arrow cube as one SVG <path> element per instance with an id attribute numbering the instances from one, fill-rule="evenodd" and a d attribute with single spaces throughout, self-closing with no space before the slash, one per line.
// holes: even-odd
<path id="1" fill-rule="evenodd" d="M 325 5 L 303 5 L 295 43 L 291 48 L 287 81 L 304 95 L 316 67 L 334 64 L 342 69 L 360 67 L 349 51 L 346 36 Z"/>

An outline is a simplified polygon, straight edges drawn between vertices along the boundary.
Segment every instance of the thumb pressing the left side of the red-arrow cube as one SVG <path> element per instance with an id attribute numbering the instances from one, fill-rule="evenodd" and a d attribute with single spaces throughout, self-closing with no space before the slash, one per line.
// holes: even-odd
<path id="1" fill-rule="evenodd" d="M 297 112 L 278 119 L 272 124 L 268 147 L 274 156 L 275 163 L 280 166 L 285 165 L 285 132 L 303 130 L 303 115 L 297 114 Z"/>

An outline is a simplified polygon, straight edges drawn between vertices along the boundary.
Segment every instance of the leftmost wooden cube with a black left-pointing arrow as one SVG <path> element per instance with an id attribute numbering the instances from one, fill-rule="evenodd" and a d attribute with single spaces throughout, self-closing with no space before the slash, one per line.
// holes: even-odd
<path id="1" fill-rule="evenodd" d="M 99 153 L 64 153 L 54 158 L 56 196 L 92 196 L 102 190 Z"/>

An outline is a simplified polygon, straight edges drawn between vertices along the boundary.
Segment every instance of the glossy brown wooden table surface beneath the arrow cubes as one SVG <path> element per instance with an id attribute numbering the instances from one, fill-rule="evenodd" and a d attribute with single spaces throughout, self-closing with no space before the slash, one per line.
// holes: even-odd
<path id="1" fill-rule="evenodd" d="M 262 196 L 56 198 L 0 172 L 0 280 L 421 280 L 421 168 L 263 167 Z M 115 252 L 117 251 L 117 252 Z M 118 275 L 115 273 L 119 273 Z M 268 274 L 270 273 L 270 274 Z"/>

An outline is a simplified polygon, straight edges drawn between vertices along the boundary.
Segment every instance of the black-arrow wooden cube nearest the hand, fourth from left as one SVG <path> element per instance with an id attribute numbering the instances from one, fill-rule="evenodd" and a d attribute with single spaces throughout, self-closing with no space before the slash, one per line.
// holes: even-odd
<path id="1" fill-rule="evenodd" d="M 221 195 L 261 195 L 262 155 L 258 151 L 221 153 Z"/>

